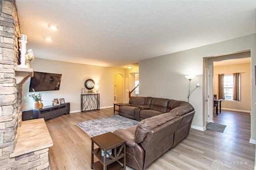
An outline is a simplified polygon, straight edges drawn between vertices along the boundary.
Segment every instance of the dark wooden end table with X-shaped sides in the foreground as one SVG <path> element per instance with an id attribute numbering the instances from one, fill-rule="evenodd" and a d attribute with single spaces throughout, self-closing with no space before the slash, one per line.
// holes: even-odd
<path id="1" fill-rule="evenodd" d="M 94 170 L 126 170 L 126 141 L 112 132 L 91 138 L 91 169 Z M 94 149 L 94 144 L 99 148 Z M 101 152 L 104 152 L 104 156 Z M 107 151 L 112 150 L 112 154 Z M 94 162 L 94 156 L 98 159 Z M 119 159 L 123 158 L 123 163 Z M 121 165 L 122 164 L 122 165 Z"/>

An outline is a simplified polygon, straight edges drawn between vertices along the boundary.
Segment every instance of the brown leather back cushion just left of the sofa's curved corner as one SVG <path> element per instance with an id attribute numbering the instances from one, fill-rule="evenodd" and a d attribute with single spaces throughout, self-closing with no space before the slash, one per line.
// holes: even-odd
<path id="1" fill-rule="evenodd" d="M 149 109 L 166 113 L 169 100 L 170 99 L 153 97 Z"/>

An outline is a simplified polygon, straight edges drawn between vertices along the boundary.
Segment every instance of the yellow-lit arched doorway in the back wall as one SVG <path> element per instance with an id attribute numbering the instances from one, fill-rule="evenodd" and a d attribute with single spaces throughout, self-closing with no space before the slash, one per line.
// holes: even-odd
<path id="1" fill-rule="evenodd" d="M 124 77 L 118 73 L 114 76 L 114 103 L 123 103 Z"/>

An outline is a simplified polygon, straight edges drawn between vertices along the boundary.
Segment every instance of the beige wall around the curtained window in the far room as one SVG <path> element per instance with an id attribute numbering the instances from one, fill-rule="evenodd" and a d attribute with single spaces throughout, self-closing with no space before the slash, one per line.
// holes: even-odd
<path id="1" fill-rule="evenodd" d="M 218 94 L 218 74 L 240 74 L 240 101 L 222 101 L 223 109 L 231 109 L 237 111 L 251 111 L 251 71 L 250 63 L 224 65 L 213 67 L 213 93 Z"/>

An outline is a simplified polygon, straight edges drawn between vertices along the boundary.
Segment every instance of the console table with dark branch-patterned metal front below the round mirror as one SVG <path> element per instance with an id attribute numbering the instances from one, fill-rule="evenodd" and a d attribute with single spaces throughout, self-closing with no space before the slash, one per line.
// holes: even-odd
<path id="1" fill-rule="evenodd" d="M 81 94 L 81 112 L 100 110 L 100 94 Z"/>

